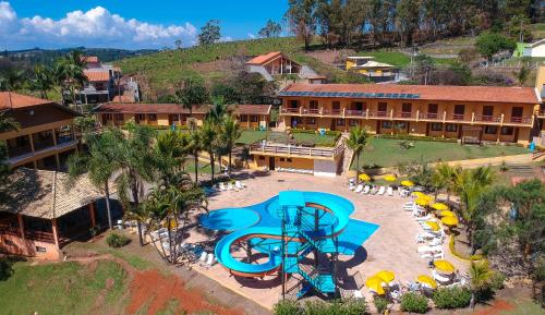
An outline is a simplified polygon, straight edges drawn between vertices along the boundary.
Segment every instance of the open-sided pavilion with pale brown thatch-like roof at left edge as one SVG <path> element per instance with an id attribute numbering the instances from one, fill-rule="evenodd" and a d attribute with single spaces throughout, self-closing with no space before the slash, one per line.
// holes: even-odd
<path id="1" fill-rule="evenodd" d="M 0 186 L 0 252 L 57 261 L 61 249 L 92 227 L 106 226 L 104 194 L 86 177 L 20 168 Z"/>

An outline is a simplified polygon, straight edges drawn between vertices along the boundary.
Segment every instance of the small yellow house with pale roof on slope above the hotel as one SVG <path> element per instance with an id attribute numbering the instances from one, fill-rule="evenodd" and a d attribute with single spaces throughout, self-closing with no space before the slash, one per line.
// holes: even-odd
<path id="1" fill-rule="evenodd" d="M 355 71 L 374 82 L 395 81 L 398 74 L 396 66 L 374 59 L 366 56 L 347 57 L 346 70 Z"/>

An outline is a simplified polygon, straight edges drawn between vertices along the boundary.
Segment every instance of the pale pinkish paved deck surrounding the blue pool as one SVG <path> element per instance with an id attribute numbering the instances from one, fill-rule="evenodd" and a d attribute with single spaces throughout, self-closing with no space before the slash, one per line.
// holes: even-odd
<path id="1" fill-rule="evenodd" d="M 251 173 L 252 174 L 252 173 Z M 429 275 L 427 259 L 421 258 L 416 249 L 415 235 L 422 232 L 420 225 L 411 214 L 403 211 L 402 205 L 409 198 L 395 196 L 362 195 L 348 190 L 344 178 L 319 178 L 305 174 L 290 174 L 268 172 L 252 175 L 243 180 L 246 189 L 234 192 L 219 192 L 209 198 L 210 210 L 226 207 L 245 207 L 262 203 L 284 190 L 319 191 L 343 196 L 354 204 L 355 210 L 351 218 L 379 225 L 379 229 L 371 235 L 356 251 L 354 256 L 340 256 L 338 266 L 339 276 L 346 279 L 341 287 L 355 289 L 363 286 L 364 279 L 382 269 L 396 272 L 396 281 L 404 284 L 414 280 L 419 275 Z M 203 229 L 193 229 L 189 242 L 209 241 L 210 235 Z M 448 243 L 444 244 L 445 258 L 455 264 L 460 271 L 465 272 L 468 265 L 453 257 Z M 264 280 L 239 278 L 230 276 L 219 264 L 209 269 L 195 266 L 195 270 L 218 281 L 222 286 L 246 296 L 267 308 L 280 299 L 281 286 L 277 277 L 267 277 Z M 354 274 L 361 276 L 353 277 Z M 371 292 L 363 288 L 362 293 L 371 301 Z"/>

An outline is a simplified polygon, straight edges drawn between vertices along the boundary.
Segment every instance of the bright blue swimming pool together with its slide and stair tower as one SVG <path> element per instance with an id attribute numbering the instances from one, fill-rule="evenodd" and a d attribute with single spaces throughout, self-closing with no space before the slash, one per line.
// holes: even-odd
<path id="1" fill-rule="evenodd" d="M 215 255 L 229 272 L 240 277 L 282 276 L 282 294 L 287 275 L 299 275 L 293 288 L 298 296 L 311 288 L 336 293 L 336 263 L 339 254 L 354 252 L 377 229 L 377 225 L 350 219 L 354 206 L 348 199 L 322 192 L 283 191 L 261 204 L 225 208 L 201 217 L 201 225 L 211 230 L 232 231 L 215 249 Z M 234 244 L 246 246 L 246 262 L 231 252 Z M 251 250 L 265 255 L 252 263 Z M 314 264 L 308 256 L 314 253 Z M 323 257 L 318 262 L 318 256 Z M 325 258 L 324 258 L 325 257 Z M 300 286 L 301 284 L 301 286 Z"/>

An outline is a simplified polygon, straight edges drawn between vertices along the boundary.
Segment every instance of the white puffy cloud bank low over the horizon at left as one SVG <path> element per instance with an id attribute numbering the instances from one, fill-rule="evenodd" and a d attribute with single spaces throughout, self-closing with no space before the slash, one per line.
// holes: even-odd
<path id="1" fill-rule="evenodd" d="M 191 23 L 183 25 L 150 24 L 124 19 L 102 7 L 72 11 L 59 20 L 43 17 L 17 19 L 9 2 L 0 2 L 0 45 L 8 48 L 28 47 L 116 47 L 160 48 L 181 39 L 193 45 L 197 29 Z M 2 47 L 0 47 L 2 48 Z"/>

